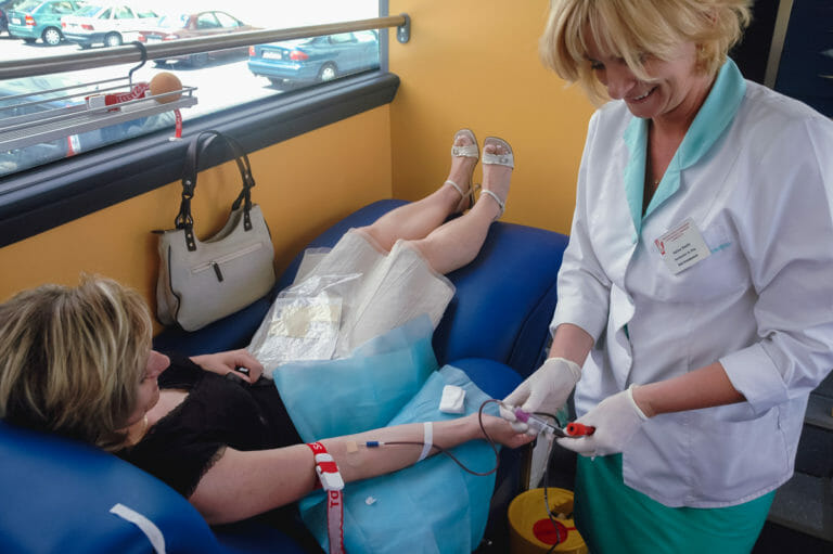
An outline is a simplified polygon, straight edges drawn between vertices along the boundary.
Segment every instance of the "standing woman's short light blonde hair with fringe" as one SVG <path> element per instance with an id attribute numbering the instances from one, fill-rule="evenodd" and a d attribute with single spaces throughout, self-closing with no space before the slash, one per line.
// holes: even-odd
<path id="1" fill-rule="evenodd" d="M 714 75 L 751 21 L 751 0 L 551 0 L 540 53 L 562 79 L 578 82 L 595 103 L 610 100 L 587 59 L 588 39 L 648 79 L 645 54 L 670 60 L 683 42 L 697 44 L 697 66 Z"/>

